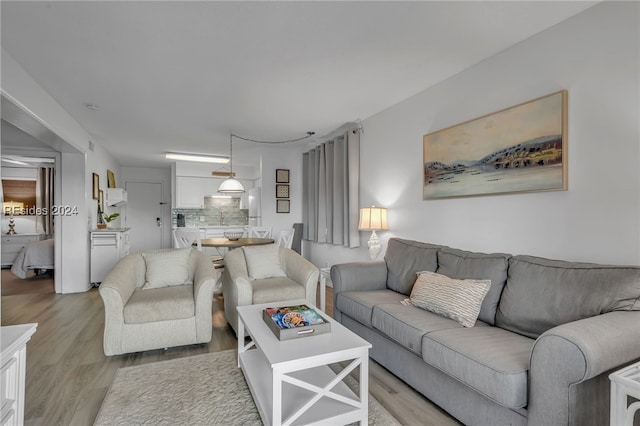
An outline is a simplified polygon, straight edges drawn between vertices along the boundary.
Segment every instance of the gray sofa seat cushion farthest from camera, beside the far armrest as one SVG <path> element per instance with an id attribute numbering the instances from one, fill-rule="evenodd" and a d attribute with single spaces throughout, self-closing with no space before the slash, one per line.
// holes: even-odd
<path id="1" fill-rule="evenodd" d="M 336 297 L 335 308 L 354 320 L 371 327 L 373 308 L 385 303 L 400 304 L 404 296 L 391 290 L 345 291 Z"/>

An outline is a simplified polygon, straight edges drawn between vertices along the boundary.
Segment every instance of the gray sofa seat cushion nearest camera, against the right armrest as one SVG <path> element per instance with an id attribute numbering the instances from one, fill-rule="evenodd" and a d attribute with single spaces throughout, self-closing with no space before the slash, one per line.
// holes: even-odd
<path id="1" fill-rule="evenodd" d="M 422 359 L 498 404 L 527 405 L 534 340 L 498 327 L 434 331 L 422 338 Z"/>

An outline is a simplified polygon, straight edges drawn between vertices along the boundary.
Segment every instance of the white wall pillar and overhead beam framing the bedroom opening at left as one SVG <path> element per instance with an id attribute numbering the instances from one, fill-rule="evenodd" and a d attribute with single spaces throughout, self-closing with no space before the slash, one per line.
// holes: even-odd
<path id="1" fill-rule="evenodd" d="M 55 134 L 63 151 L 58 176 L 62 182 L 60 203 L 76 206 L 78 214 L 62 216 L 56 222 L 56 291 L 87 291 L 89 280 L 89 229 L 95 224 L 96 201 L 92 199 L 92 172 L 100 173 L 106 188 L 106 169 L 116 168 L 112 156 L 98 143 L 22 67 L 2 49 L 2 95 Z M 116 170 L 114 170 L 116 171 Z M 103 177 L 104 175 L 104 177 Z M 104 179 L 104 181 L 103 181 Z M 59 225 L 59 226 L 58 226 Z M 60 266 L 60 268 L 58 267 Z"/>

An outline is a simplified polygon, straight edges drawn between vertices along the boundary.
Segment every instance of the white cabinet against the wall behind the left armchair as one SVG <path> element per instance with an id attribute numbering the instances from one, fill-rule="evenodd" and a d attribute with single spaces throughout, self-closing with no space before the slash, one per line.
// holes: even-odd
<path id="1" fill-rule="evenodd" d="M 129 228 L 91 231 L 91 282 L 101 283 L 120 258 L 129 254 Z"/>

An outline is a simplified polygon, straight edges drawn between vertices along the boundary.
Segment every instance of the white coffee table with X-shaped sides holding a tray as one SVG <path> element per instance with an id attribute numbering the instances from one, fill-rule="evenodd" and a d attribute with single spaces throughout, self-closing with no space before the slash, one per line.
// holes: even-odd
<path id="1" fill-rule="evenodd" d="M 289 300 L 238 307 L 238 336 L 248 331 L 251 341 L 238 339 L 238 367 L 242 368 L 260 417 L 266 425 L 327 425 L 368 422 L 369 349 L 371 344 L 324 312 L 331 332 L 280 341 L 262 319 L 262 310 L 307 304 Z M 252 349 L 255 346 L 255 349 Z M 329 364 L 351 361 L 339 373 Z M 342 380 L 360 367 L 356 395 Z"/>

